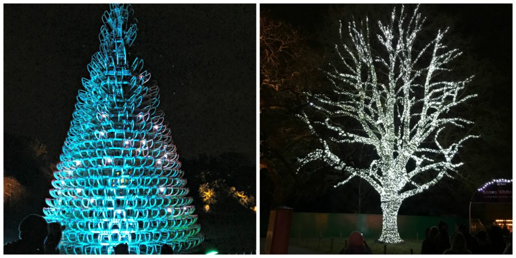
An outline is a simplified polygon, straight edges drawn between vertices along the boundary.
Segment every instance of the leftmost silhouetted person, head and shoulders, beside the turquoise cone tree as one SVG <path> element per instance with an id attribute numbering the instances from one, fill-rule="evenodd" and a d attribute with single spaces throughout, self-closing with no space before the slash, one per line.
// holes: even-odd
<path id="1" fill-rule="evenodd" d="M 25 217 L 20 226 L 20 239 L 4 245 L 4 254 L 44 254 L 44 243 L 49 233 L 46 220 L 36 214 Z"/>

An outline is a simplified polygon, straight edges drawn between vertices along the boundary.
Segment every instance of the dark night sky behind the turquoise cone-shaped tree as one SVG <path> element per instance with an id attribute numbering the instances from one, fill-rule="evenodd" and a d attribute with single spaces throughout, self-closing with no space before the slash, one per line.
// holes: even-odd
<path id="1" fill-rule="evenodd" d="M 108 8 L 4 5 L 5 133 L 40 138 L 57 158 Z M 178 153 L 237 152 L 254 162 L 255 5 L 133 9 L 138 36 L 129 60 L 143 58 L 156 80 Z"/>

